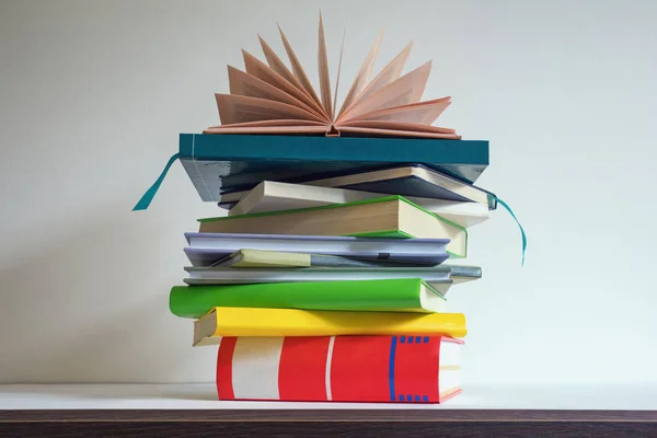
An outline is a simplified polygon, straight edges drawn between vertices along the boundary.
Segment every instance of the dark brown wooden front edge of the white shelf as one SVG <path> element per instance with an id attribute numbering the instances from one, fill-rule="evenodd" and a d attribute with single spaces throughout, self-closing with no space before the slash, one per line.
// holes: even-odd
<path id="1" fill-rule="evenodd" d="M 657 437 L 657 411 L 21 410 L 0 437 Z"/>

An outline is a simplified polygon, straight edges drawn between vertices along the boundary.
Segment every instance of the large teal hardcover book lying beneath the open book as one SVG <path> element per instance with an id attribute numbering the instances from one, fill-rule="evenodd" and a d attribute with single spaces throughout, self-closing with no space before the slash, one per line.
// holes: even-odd
<path id="1" fill-rule="evenodd" d="M 249 191 L 262 181 L 304 178 L 383 170 L 400 164 L 425 166 L 474 181 L 488 166 L 488 141 L 425 138 L 181 134 L 180 150 L 166 163 L 135 210 L 148 208 L 171 165 L 180 160 L 205 201 Z"/>

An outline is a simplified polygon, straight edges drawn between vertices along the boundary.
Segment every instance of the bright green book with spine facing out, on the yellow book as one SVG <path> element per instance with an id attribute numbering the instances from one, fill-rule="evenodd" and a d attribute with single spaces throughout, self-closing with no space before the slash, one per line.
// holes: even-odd
<path id="1" fill-rule="evenodd" d="M 174 286 L 169 295 L 176 316 L 198 319 L 215 307 L 433 313 L 446 311 L 446 299 L 419 278 Z"/>

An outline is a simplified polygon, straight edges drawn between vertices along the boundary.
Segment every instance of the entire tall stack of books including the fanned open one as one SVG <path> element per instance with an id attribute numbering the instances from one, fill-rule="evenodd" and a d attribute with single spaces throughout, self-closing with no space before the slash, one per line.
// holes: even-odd
<path id="1" fill-rule="evenodd" d="M 370 80 L 378 39 L 337 111 L 321 19 L 320 94 L 280 34 L 291 70 L 261 38 L 267 64 L 244 53 L 216 95 L 222 125 L 166 166 L 226 210 L 185 234 L 171 312 L 219 346 L 220 400 L 440 403 L 466 334 L 448 291 L 481 278 L 460 261 L 498 201 L 474 185 L 488 142 L 431 126 L 451 101 L 419 101 L 430 64 L 401 76 L 410 46 Z"/>

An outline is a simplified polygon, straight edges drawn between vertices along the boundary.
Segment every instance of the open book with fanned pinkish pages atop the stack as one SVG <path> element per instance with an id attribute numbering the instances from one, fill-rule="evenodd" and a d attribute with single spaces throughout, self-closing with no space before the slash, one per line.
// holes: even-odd
<path id="1" fill-rule="evenodd" d="M 379 35 L 338 111 L 336 100 L 344 39 L 332 100 L 322 15 L 319 26 L 319 93 L 313 89 L 280 26 L 278 30 L 291 70 L 258 36 L 266 64 L 242 50 L 246 71 L 229 66 L 230 94 L 216 94 L 221 126 L 209 127 L 204 134 L 461 139 L 454 129 L 433 126 L 451 103 L 449 96 L 420 102 L 431 62 L 402 76 L 412 44 L 370 79 L 381 42 Z"/>

